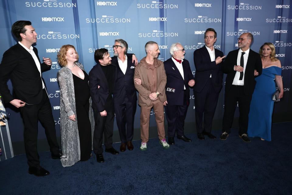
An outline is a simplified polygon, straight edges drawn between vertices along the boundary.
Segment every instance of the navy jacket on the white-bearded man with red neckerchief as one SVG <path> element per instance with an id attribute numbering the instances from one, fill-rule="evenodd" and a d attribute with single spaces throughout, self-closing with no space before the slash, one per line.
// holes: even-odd
<path id="1" fill-rule="evenodd" d="M 184 86 L 186 86 L 187 96 L 189 97 L 189 80 L 194 79 L 193 73 L 189 67 L 189 61 L 186 59 L 182 62 L 183 69 L 183 77 L 179 73 L 179 69 L 177 69 L 176 64 L 172 61 L 172 59 L 166 60 L 164 63 L 164 69 L 166 74 L 166 85 L 165 85 L 165 95 L 167 99 L 167 103 L 169 105 L 183 105 L 183 93 Z M 175 89 L 174 92 L 167 90 L 167 88 Z M 189 105 L 189 98 L 188 105 Z"/>

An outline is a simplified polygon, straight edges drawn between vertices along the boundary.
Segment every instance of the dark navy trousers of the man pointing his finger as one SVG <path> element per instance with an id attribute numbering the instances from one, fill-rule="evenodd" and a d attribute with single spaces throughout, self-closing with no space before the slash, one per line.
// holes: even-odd
<path id="1" fill-rule="evenodd" d="M 215 92 L 211 78 L 208 79 L 206 86 L 200 93 L 194 91 L 197 133 L 211 132 L 218 97 L 219 93 Z"/>

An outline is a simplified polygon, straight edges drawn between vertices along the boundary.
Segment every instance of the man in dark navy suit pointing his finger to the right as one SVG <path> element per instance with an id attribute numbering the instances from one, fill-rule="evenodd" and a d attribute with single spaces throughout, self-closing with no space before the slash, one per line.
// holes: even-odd
<path id="1" fill-rule="evenodd" d="M 205 140 L 204 135 L 216 139 L 211 134 L 212 120 L 215 114 L 219 92 L 222 88 L 223 72 L 221 70 L 222 51 L 214 48 L 217 33 L 208 28 L 204 34 L 205 46 L 194 51 L 196 67 L 194 85 L 196 129 L 198 138 Z M 204 128 L 203 125 L 204 115 Z"/>

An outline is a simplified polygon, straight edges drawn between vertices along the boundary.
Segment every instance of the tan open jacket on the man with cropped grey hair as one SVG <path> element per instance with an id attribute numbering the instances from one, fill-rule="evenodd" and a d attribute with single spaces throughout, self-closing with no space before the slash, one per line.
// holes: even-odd
<path id="1" fill-rule="evenodd" d="M 155 58 L 154 60 L 157 60 L 157 64 L 154 68 L 157 68 L 157 89 L 156 91 L 160 94 L 158 95 L 158 100 L 164 102 L 166 101 L 165 96 L 165 85 L 166 85 L 166 74 L 163 62 Z M 148 68 L 148 63 L 145 60 L 145 57 L 141 59 L 140 63 L 135 67 L 135 74 L 134 78 L 140 78 L 141 79 L 141 85 L 136 84 L 134 82 L 135 88 L 139 92 L 139 105 L 140 106 L 150 106 L 151 105 L 151 99 L 149 98 L 149 95 L 151 94 L 151 90 L 148 84 L 148 78 L 147 71 L 150 71 Z"/>

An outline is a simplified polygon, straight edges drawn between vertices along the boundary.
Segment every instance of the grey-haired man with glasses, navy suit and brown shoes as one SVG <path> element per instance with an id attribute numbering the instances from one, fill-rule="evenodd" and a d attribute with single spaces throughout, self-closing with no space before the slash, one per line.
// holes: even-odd
<path id="1" fill-rule="evenodd" d="M 135 63 L 128 57 L 128 44 L 123 39 L 116 39 L 113 45 L 112 65 L 116 66 L 116 82 L 113 90 L 113 102 L 116 124 L 119 129 L 120 151 L 133 150 L 134 116 L 137 108 L 137 94 L 134 86 Z"/>

